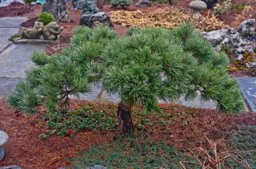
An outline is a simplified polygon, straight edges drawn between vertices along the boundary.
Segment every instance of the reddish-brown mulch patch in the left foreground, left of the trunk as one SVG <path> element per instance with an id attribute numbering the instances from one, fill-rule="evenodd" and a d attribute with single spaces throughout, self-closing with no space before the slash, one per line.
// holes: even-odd
<path id="1" fill-rule="evenodd" d="M 75 157 L 95 143 L 112 140 L 114 132 L 79 132 L 73 138 L 53 136 L 41 140 L 46 124 L 40 121 L 40 114 L 25 116 L 0 102 L 0 128 L 10 139 L 6 143 L 6 156 L 0 167 L 19 165 L 28 169 L 48 169 L 69 166 L 68 159 Z"/>

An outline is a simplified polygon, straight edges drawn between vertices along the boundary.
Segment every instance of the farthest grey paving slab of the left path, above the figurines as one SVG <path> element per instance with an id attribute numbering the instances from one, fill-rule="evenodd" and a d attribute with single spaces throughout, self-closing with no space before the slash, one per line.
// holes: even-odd
<path id="1" fill-rule="evenodd" d="M 0 18 L 0 28 L 19 28 L 26 20 L 26 17 L 3 17 Z"/>

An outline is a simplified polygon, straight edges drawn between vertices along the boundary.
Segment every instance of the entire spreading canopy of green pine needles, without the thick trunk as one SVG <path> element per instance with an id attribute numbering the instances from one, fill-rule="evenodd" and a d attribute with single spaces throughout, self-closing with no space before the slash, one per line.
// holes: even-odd
<path id="1" fill-rule="evenodd" d="M 78 26 L 73 33 L 62 53 L 33 53 L 36 67 L 9 96 L 11 106 L 32 113 L 42 104 L 50 119 L 59 120 L 68 112 L 71 95 L 88 92 L 100 81 L 123 103 L 146 110 L 155 108 L 159 99 L 193 99 L 198 92 L 224 112 L 244 110 L 237 82 L 226 72 L 226 55 L 215 52 L 189 25 L 147 28 L 127 37 L 117 37 L 104 26 Z"/>

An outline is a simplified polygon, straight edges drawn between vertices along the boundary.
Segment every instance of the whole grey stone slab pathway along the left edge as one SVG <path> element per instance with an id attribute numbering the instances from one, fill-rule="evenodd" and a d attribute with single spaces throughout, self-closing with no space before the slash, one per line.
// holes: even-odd
<path id="1" fill-rule="evenodd" d="M 32 44 L 15 45 L 8 41 L 26 20 L 24 17 L 0 18 L 0 97 L 7 96 L 26 77 L 26 69 L 33 66 L 30 53 L 45 47 Z"/>

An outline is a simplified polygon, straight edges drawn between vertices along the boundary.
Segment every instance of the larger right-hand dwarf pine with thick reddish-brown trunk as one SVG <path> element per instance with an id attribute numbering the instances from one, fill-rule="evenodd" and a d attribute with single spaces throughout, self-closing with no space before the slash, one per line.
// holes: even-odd
<path id="1" fill-rule="evenodd" d="M 227 58 L 190 25 L 178 29 L 149 28 L 118 38 L 106 47 L 108 69 L 103 85 L 118 93 L 119 127 L 132 132 L 131 108 L 154 108 L 159 99 L 193 99 L 201 92 L 225 112 L 241 112 L 244 104 L 236 81 L 226 72 Z"/>

